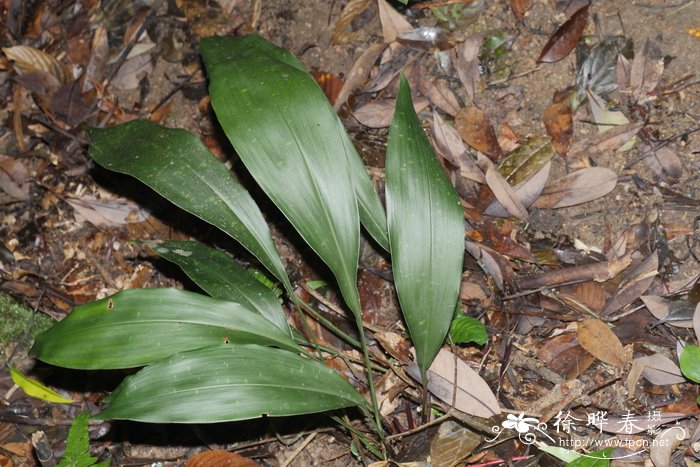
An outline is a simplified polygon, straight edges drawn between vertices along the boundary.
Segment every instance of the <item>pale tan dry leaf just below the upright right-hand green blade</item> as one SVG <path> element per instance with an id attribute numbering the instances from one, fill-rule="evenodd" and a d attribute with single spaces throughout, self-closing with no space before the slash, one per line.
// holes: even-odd
<path id="1" fill-rule="evenodd" d="M 413 350 L 411 352 L 415 354 Z M 416 381 L 421 382 L 418 365 L 411 363 L 406 367 L 406 372 Z M 501 413 L 498 400 L 486 381 L 452 352 L 441 349 L 428 368 L 428 390 L 451 406 L 455 386 L 457 396 L 454 407 L 457 410 L 483 418 Z"/>

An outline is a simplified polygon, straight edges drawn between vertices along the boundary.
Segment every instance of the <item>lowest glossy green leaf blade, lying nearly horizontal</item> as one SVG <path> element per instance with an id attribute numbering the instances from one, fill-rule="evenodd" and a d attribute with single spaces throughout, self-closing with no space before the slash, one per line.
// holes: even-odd
<path id="1" fill-rule="evenodd" d="M 367 403 L 316 360 L 256 345 L 221 345 L 173 355 L 130 376 L 99 418 L 212 423 L 353 405 Z"/>

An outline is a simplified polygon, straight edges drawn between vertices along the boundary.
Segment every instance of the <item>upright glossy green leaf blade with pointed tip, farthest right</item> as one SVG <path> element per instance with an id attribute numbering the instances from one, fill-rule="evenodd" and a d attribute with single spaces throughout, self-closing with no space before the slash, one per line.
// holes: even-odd
<path id="1" fill-rule="evenodd" d="M 457 303 L 464 219 L 413 110 L 404 77 L 389 129 L 386 204 L 396 291 L 425 381 Z"/>

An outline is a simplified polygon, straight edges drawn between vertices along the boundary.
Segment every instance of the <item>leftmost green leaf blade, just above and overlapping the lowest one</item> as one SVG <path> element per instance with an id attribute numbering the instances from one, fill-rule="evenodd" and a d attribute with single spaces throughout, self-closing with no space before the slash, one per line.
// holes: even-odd
<path id="1" fill-rule="evenodd" d="M 131 368 L 223 342 L 298 350 L 291 336 L 234 302 L 177 289 L 132 289 L 75 308 L 31 353 L 79 369 Z"/>

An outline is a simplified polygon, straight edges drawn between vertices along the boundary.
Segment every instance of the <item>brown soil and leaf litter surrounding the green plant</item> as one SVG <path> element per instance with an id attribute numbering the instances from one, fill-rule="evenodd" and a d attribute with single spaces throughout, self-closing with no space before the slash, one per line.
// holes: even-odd
<path id="1" fill-rule="evenodd" d="M 499 443 L 485 443 L 490 433 L 484 435 L 479 427 L 498 427 L 506 414 L 515 419 L 525 413 L 548 421 L 552 432 L 552 423 L 562 414 L 586 420 L 605 412 L 619 421 L 624 414 L 663 412 L 680 414 L 678 423 L 687 436 L 668 452 L 652 449 L 654 465 L 697 465 L 698 385 L 678 376 L 676 343 L 698 343 L 692 317 L 700 300 L 700 4 L 592 2 L 583 38 L 578 41 L 576 36 L 574 42 L 592 46 L 603 37 L 624 36 L 632 41 L 635 56 L 643 56 L 645 42 L 652 41 L 661 56 L 649 59 L 644 79 L 652 79 L 655 71 L 663 74 L 643 92 L 628 86 L 603 95 L 608 110 L 620 110 L 628 121 L 643 126 L 631 149 L 616 150 L 620 144 L 593 152 L 600 122 L 584 102 L 573 112 L 569 154 L 560 151 L 551 160 L 550 182 L 599 167 L 617 176 L 614 188 L 562 208 L 530 206 L 531 201 L 525 206 L 525 220 L 484 215 L 494 196 L 501 198 L 496 186 L 483 182 L 483 173 L 503 156 L 490 157 L 492 162 L 482 156 L 477 162 L 476 149 L 481 148 L 464 133 L 464 151 L 449 154 L 436 141 L 433 111 L 453 128 L 464 108 L 478 107 L 494 128 L 500 154 L 531 137 L 546 136 L 543 114 L 555 93 L 575 84 L 577 52 L 553 63 L 538 64 L 537 59 L 549 37 L 584 2 L 440 2 L 447 5 L 437 12 L 421 3 L 392 5 L 414 28 L 441 28 L 443 39 L 437 44 L 426 39 L 394 41 L 383 55 L 377 52 L 339 115 L 381 193 L 387 125 L 376 122 L 388 121 L 391 114 L 378 109 L 368 116 L 362 108 L 393 102 L 400 69 L 409 77 L 414 100 L 426 102 L 419 117 L 462 197 L 473 246 L 465 260 L 462 309 L 484 322 L 489 332 L 486 346 L 451 350 L 479 373 L 503 413 L 492 419 L 468 411 L 457 414 L 460 429 L 478 442 L 461 446 L 460 454 L 438 463 L 435 450 L 447 449 L 434 444 L 440 424 L 419 426 L 418 385 L 403 370 L 396 375 L 405 380 L 389 371 L 379 385 L 392 394 L 384 413 L 390 456 L 397 462 L 432 456 L 435 465 L 564 465 L 518 440 L 517 433 Z M 527 6 L 521 19 L 514 5 Z M 336 83 L 334 89 L 324 86 L 333 100 L 342 80 L 357 77 L 353 65 L 358 58 L 383 43 L 389 29 L 375 0 L 6 0 L 0 2 L 0 15 L 0 291 L 55 321 L 76 305 L 128 288 L 198 290 L 176 267 L 132 243 L 135 239 L 198 239 L 226 249 L 246 266 L 256 265 L 214 228 L 134 180 L 96 166 L 87 152 L 86 125 L 148 118 L 185 128 L 243 172 L 209 104 L 198 38 L 258 33 L 294 53 L 317 72 L 322 85 Z M 477 42 L 482 52 L 479 67 L 472 67 L 478 70 L 472 96 L 460 76 L 465 65 L 459 58 L 464 44 L 477 35 L 487 40 L 501 37 L 504 43 L 497 52 L 484 52 L 481 40 Z M 20 45 L 31 49 L 10 49 Z M 586 52 L 579 47 L 578 54 L 580 63 Z M 634 73 L 634 59 L 629 58 Z M 380 72 L 391 78 L 382 86 L 377 85 Z M 620 82 L 625 84 L 624 79 Z M 367 91 L 370 85 L 375 89 Z M 442 90 L 442 100 L 430 89 Z M 459 129 L 459 124 L 454 127 Z M 656 162 L 651 161 L 652 150 L 657 151 Z M 475 182 L 477 172 L 481 183 Z M 591 186 L 584 188 L 593 192 Z M 251 190 L 261 197 L 259 189 Z M 323 290 L 323 304 L 305 285 L 312 279 L 330 280 L 325 268 L 309 259 L 309 250 L 300 246 L 273 207 L 263 202 L 263 208 L 285 266 L 300 285 L 299 295 L 354 332 L 351 320 L 330 312 L 332 307 L 342 308 L 332 287 Z M 624 266 L 611 272 L 621 258 Z M 591 264 L 609 268 L 603 277 L 584 274 L 567 280 L 557 275 Z M 540 277 L 543 271 L 553 275 Z M 393 333 L 407 344 L 408 337 L 392 282 L 386 280 L 390 276 L 388 258 L 367 242 L 359 287 L 373 351 L 379 361 L 403 368 L 408 359 L 387 350 L 391 346 L 384 340 Z M 652 298 L 643 301 L 642 296 Z M 15 316 L 0 313 L 0 320 L 19 319 Z M 659 324 L 664 317 L 667 321 Z M 21 337 L 14 334 L 0 349 L 2 466 L 41 465 L 32 446 L 32 434 L 39 430 L 46 433 L 50 452 L 60 458 L 76 414 L 96 413 L 124 376 L 66 371 L 28 357 L 38 322 L 28 320 L 26 332 Z M 597 327 L 601 323 L 606 330 Z M 589 326 L 593 337 L 583 334 Z M 696 324 L 696 332 L 697 328 Z M 351 358 L 359 355 L 320 324 L 313 322 L 312 329 Z M 633 359 L 652 356 L 666 357 L 672 367 L 658 371 L 675 372 L 680 379 L 654 378 L 644 373 L 642 364 L 633 364 Z M 332 365 L 349 373 L 342 362 Z M 27 396 L 14 386 L 8 367 L 77 402 L 56 405 Z M 364 384 L 361 378 L 355 382 Z M 449 408 L 434 402 L 435 414 Z M 359 416 L 351 416 L 358 429 L 368 429 Z M 649 424 L 648 430 L 626 433 L 625 439 L 652 440 L 660 426 Z M 459 439 L 468 438 L 460 433 Z M 323 416 L 216 426 L 102 422 L 91 424 L 90 435 L 91 451 L 113 465 L 185 465 L 195 454 L 212 449 L 236 452 L 260 465 L 347 466 L 377 460 L 358 451 L 349 432 Z M 586 426 L 567 435 L 593 439 L 600 434 Z M 651 465 L 648 450 L 640 458 L 616 465 Z M 210 462 L 206 465 L 229 465 L 221 459 Z"/>

